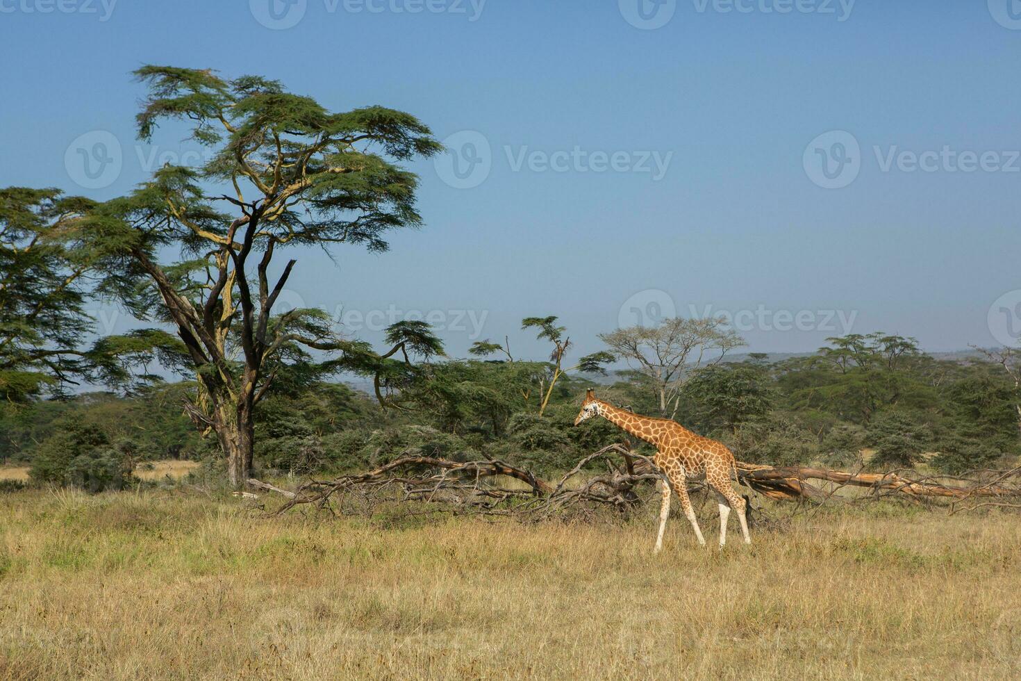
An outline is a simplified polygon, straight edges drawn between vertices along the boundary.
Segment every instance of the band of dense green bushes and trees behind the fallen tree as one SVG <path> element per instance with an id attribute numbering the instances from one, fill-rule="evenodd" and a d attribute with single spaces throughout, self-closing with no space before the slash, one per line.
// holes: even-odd
<path id="1" fill-rule="evenodd" d="M 904 346 L 891 351 L 877 338 L 838 339 L 814 355 L 779 361 L 752 353 L 702 366 L 678 382 L 666 416 L 723 440 L 739 459 L 752 463 L 924 465 L 960 473 L 1008 464 L 1021 452 L 1018 393 L 1001 367 L 978 355 L 936 359 L 908 339 L 898 339 Z M 338 471 L 422 453 L 553 470 L 622 438 L 601 421 L 572 427 L 580 395 L 593 385 L 581 378 L 562 378 L 540 416 L 544 366 L 437 361 L 404 387 L 399 407 L 387 409 L 343 384 L 292 388 L 260 406 L 255 466 Z M 661 414 L 648 376 L 632 371 L 615 378 L 597 387 L 600 397 Z M 127 396 L 89 393 L 5 405 L 0 457 L 32 464 L 43 478 L 60 468 L 54 460 L 83 455 L 218 460 L 215 438 L 196 429 L 182 408 L 193 390 L 179 383 Z"/>

